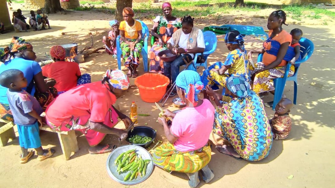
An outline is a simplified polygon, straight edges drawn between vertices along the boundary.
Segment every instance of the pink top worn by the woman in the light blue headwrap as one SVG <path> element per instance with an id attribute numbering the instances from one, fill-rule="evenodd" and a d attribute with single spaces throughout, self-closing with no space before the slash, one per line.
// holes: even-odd
<path id="1" fill-rule="evenodd" d="M 193 151 L 207 144 L 213 128 L 214 107 L 209 100 L 194 108 L 186 108 L 177 113 L 170 128 L 179 137 L 175 149 L 182 152 Z"/>

